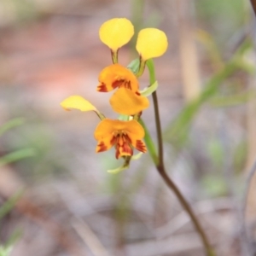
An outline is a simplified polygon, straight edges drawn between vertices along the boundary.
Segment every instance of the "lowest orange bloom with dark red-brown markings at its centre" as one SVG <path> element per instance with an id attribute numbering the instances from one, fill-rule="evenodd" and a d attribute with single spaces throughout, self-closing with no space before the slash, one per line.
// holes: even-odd
<path id="1" fill-rule="evenodd" d="M 94 132 L 98 141 L 96 152 L 103 152 L 114 146 L 116 159 L 120 156 L 131 156 L 133 148 L 145 153 L 147 148 L 142 141 L 144 135 L 143 126 L 136 120 L 103 119 Z"/>

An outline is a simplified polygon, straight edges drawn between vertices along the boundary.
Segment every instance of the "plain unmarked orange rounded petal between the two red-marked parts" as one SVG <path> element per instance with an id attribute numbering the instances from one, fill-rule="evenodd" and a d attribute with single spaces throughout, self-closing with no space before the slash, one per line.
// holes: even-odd
<path id="1" fill-rule="evenodd" d="M 126 115 L 140 113 L 148 108 L 149 101 L 145 96 L 140 96 L 124 87 L 119 88 L 110 98 L 113 111 Z"/>

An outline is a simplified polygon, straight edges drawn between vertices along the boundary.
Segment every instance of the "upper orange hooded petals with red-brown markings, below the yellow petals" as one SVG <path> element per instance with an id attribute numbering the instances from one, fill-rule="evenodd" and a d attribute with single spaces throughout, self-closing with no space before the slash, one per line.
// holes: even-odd
<path id="1" fill-rule="evenodd" d="M 112 64 L 105 67 L 99 75 L 98 91 L 107 92 L 117 87 L 125 87 L 137 92 L 139 84 L 136 76 L 126 67 L 120 64 Z"/>

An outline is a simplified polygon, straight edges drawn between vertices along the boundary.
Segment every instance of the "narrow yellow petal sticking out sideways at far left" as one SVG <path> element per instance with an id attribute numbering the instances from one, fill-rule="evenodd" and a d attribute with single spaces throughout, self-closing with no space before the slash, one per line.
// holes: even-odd
<path id="1" fill-rule="evenodd" d="M 79 109 L 81 111 L 96 111 L 97 109 L 88 101 L 86 101 L 82 96 L 70 96 L 61 102 L 61 107 L 66 110 L 71 110 L 71 108 Z"/>

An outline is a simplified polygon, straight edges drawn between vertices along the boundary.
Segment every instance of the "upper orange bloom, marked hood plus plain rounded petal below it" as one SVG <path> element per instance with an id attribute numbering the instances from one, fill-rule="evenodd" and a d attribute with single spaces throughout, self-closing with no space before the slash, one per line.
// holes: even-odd
<path id="1" fill-rule="evenodd" d="M 118 63 L 105 67 L 99 75 L 99 82 L 98 91 L 118 88 L 110 98 L 113 111 L 134 115 L 148 108 L 148 98 L 140 95 L 137 78 L 128 68 Z"/>

